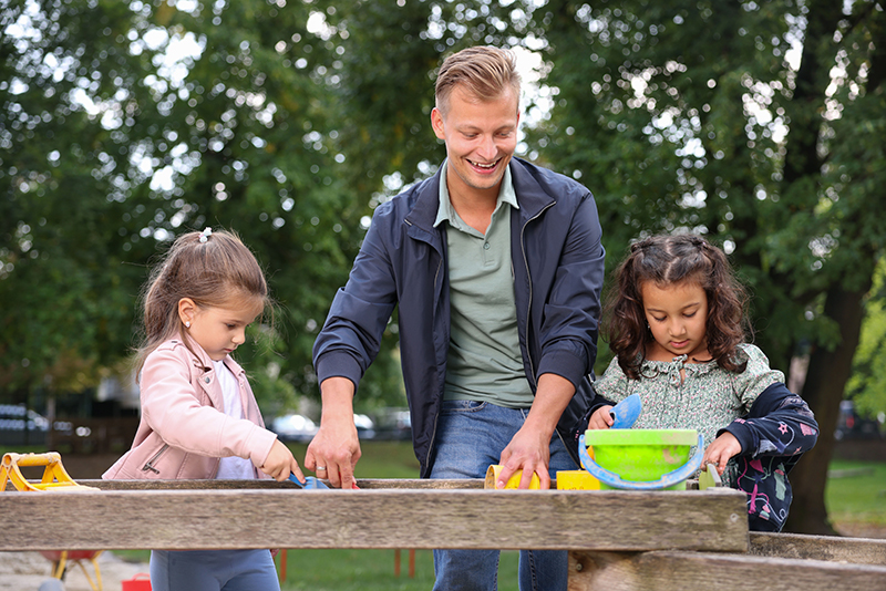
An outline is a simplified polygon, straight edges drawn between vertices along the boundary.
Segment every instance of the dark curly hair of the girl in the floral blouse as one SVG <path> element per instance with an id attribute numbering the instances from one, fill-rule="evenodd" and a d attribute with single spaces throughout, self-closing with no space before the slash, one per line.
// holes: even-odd
<path id="1" fill-rule="evenodd" d="M 643 312 L 642 286 L 647 281 L 660 288 L 698 283 L 708 297 L 708 352 L 724 370 L 744 371 L 748 362 L 738 348 L 751 335 L 748 293 L 725 253 L 700 236 L 661 235 L 631 245 L 607 294 L 604 330 L 625 375 L 640 377 L 646 349 L 653 340 Z"/>

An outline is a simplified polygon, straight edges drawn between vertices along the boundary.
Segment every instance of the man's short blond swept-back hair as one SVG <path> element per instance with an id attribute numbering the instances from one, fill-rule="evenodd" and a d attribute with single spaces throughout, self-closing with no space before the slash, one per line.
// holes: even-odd
<path id="1" fill-rule="evenodd" d="M 450 95 L 461 85 L 481 101 L 499 97 L 508 87 L 519 100 L 519 73 L 513 51 L 481 45 L 453 53 L 443 61 L 436 76 L 434 97 L 441 113 L 446 112 Z"/>

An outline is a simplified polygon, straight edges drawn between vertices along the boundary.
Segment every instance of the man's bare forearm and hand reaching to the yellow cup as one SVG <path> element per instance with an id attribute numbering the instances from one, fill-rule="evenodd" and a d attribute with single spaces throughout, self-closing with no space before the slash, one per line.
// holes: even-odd
<path id="1" fill-rule="evenodd" d="M 550 438 L 574 394 L 575 386 L 565 377 L 546 373 L 538 379 L 538 390 L 526 422 L 502 452 L 498 463 L 504 468 L 496 488 L 504 488 L 518 469 L 523 469 L 519 488 L 529 487 L 533 473 L 538 475 L 543 489 L 550 488 Z"/>

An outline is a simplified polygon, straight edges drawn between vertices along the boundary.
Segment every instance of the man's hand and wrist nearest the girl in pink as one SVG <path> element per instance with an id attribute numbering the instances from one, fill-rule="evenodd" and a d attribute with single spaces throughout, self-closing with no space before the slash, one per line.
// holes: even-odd
<path id="1" fill-rule="evenodd" d="M 305 454 L 306 468 L 343 489 L 354 488 L 353 470 L 361 455 L 353 423 L 353 390 L 347 377 L 323 380 L 320 428 Z"/>

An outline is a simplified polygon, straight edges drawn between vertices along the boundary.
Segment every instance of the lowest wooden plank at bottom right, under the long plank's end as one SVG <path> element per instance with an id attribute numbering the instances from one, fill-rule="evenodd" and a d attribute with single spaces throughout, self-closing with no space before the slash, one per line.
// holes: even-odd
<path id="1" fill-rule="evenodd" d="M 569 552 L 569 591 L 886 591 L 886 566 L 709 552 Z"/>

